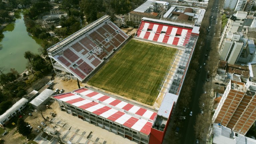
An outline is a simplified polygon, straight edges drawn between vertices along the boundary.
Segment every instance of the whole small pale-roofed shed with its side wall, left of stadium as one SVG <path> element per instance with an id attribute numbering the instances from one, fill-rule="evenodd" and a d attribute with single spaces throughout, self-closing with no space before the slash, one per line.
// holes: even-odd
<path id="1" fill-rule="evenodd" d="M 45 89 L 29 103 L 33 108 L 38 109 L 41 105 L 46 104 L 50 100 L 50 96 L 53 94 L 55 94 L 53 90 Z"/>

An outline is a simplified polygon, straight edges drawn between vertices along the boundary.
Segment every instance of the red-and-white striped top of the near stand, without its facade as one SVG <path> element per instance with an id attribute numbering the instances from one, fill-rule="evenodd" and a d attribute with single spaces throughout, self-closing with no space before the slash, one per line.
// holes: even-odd
<path id="1" fill-rule="evenodd" d="M 157 113 L 86 88 L 54 96 L 108 120 L 149 135 Z"/>

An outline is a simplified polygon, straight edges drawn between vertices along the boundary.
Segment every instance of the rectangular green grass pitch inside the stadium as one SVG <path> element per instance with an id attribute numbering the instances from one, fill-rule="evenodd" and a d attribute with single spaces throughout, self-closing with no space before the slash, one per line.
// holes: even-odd
<path id="1" fill-rule="evenodd" d="M 88 84 L 153 105 L 177 49 L 131 40 Z"/>

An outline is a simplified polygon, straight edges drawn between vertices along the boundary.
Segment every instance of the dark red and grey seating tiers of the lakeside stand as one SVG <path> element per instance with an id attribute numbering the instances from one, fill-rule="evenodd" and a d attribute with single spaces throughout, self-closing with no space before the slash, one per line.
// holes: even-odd
<path id="1" fill-rule="evenodd" d="M 109 21 L 77 39 L 70 47 L 63 49 L 63 53 L 56 58 L 69 70 L 84 79 L 127 38 L 125 33 Z"/>

